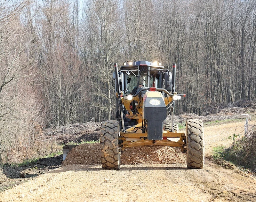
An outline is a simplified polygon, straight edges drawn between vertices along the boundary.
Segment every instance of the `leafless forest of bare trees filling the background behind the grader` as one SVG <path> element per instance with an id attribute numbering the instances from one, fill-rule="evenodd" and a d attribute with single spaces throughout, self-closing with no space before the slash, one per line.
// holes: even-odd
<path id="1" fill-rule="evenodd" d="M 125 60 L 177 64 L 176 113 L 255 100 L 256 1 L 0 0 L 0 163 L 43 153 L 45 128 L 115 119 Z"/>

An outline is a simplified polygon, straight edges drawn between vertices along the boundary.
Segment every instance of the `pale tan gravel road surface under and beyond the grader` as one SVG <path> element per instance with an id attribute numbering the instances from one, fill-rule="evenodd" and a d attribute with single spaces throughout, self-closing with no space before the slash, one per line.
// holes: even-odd
<path id="1" fill-rule="evenodd" d="M 204 169 L 184 164 L 67 165 L 0 193 L 0 201 L 256 201 L 256 180 L 211 160 L 212 147 L 225 144 L 244 122 L 204 128 Z M 173 162 L 172 162 L 173 163 Z"/>

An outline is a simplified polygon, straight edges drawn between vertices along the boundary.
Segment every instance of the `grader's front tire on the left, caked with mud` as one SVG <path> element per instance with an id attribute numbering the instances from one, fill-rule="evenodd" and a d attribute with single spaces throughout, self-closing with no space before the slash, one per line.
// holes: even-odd
<path id="1" fill-rule="evenodd" d="M 101 164 L 103 169 L 120 169 L 118 121 L 103 121 L 100 130 Z"/>

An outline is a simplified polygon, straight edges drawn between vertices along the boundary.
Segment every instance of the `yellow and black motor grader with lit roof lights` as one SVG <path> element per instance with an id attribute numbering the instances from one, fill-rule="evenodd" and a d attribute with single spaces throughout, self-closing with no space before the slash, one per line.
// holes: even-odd
<path id="1" fill-rule="evenodd" d="M 204 168 L 203 122 L 187 120 L 185 133 L 173 123 L 174 103 L 186 96 L 175 91 L 176 64 L 172 72 L 159 61 L 125 61 L 119 71 L 114 66 L 116 120 L 101 124 L 102 168 L 120 169 L 127 147 L 156 145 L 180 147 L 188 168 Z"/>

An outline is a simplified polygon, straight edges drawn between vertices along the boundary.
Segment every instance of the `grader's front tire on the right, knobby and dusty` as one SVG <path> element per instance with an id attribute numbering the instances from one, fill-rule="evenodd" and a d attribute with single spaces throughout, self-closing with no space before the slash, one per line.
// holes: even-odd
<path id="1" fill-rule="evenodd" d="M 202 120 L 186 121 L 187 166 L 204 168 L 204 126 Z"/>

